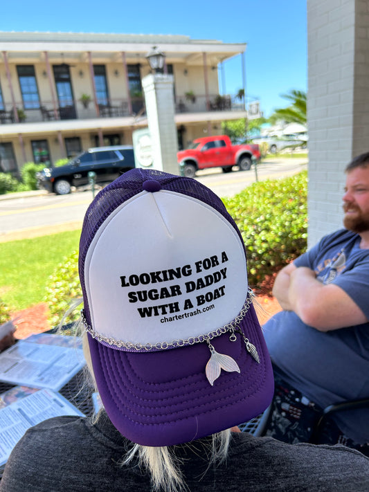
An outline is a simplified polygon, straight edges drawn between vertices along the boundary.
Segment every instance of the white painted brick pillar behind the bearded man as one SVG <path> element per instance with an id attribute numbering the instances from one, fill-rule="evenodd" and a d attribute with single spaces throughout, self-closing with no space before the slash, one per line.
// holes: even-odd
<path id="1" fill-rule="evenodd" d="M 307 0 L 309 229 L 342 226 L 345 166 L 369 151 L 369 2 Z"/>

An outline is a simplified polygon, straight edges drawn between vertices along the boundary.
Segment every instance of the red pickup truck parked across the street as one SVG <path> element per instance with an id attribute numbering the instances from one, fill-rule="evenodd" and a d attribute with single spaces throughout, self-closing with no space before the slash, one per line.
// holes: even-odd
<path id="1" fill-rule="evenodd" d="M 193 178 L 197 170 L 208 167 L 231 172 L 233 165 L 238 165 L 240 171 L 247 171 L 260 156 L 259 145 L 232 145 L 228 136 L 218 135 L 197 138 L 189 149 L 177 153 L 177 160 L 182 176 Z"/>

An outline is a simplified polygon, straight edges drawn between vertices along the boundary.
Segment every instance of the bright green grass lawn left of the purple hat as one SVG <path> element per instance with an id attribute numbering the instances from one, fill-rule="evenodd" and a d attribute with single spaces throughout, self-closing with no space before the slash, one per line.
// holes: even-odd
<path id="1" fill-rule="evenodd" d="M 0 299 L 12 311 L 44 300 L 45 284 L 62 259 L 78 249 L 80 230 L 0 243 Z"/>

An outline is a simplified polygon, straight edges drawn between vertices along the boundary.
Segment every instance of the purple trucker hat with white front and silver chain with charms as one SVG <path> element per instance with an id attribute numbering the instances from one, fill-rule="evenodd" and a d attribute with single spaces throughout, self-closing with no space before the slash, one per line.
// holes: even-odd
<path id="1" fill-rule="evenodd" d="M 157 170 L 120 176 L 86 212 L 79 269 L 93 372 L 122 435 L 181 444 L 269 406 L 244 243 L 204 185 Z"/>

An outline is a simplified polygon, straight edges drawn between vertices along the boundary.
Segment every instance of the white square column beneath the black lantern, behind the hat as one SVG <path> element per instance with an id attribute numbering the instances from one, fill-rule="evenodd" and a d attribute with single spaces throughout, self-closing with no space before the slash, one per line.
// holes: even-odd
<path id="1" fill-rule="evenodd" d="M 147 122 L 152 140 L 153 167 L 179 175 L 178 141 L 174 122 L 173 76 L 162 73 L 142 80 Z"/>

